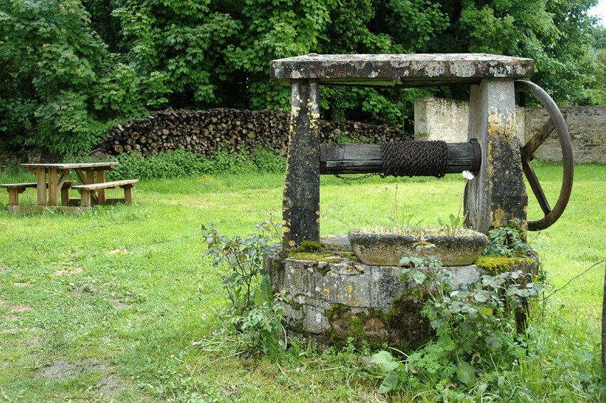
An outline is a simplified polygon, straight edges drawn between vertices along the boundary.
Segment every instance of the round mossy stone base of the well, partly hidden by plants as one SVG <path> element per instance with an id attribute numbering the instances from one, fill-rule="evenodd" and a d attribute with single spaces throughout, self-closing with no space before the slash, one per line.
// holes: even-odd
<path id="1" fill-rule="evenodd" d="M 351 252 L 346 235 L 327 237 L 330 250 L 312 254 L 276 254 L 265 259 L 274 292 L 290 300 L 284 325 L 291 335 L 309 337 L 317 345 L 339 345 L 349 337 L 371 347 L 383 343 L 402 349 L 422 345 L 431 336 L 421 317 L 423 295 L 413 280 L 401 282 L 398 266 L 364 265 Z M 476 265 L 448 267 L 453 290 L 467 290 L 481 275 Z M 525 262 L 509 270 L 535 272 Z"/>

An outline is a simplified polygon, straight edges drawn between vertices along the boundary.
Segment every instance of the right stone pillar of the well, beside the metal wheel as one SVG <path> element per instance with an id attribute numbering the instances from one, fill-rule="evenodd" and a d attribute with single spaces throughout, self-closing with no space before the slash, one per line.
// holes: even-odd
<path id="1" fill-rule="evenodd" d="M 481 233 L 513 220 L 526 228 L 528 195 L 515 137 L 513 80 L 471 86 L 468 138 L 477 138 L 482 164 L 465 192 L 466 227 Z"/>

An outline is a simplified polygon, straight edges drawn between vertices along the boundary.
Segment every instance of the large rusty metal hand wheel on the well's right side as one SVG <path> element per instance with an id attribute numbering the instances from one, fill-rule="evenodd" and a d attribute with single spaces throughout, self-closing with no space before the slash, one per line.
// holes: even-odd
<path id="1" fill-rule="evenodd" d="M 536 133 L 525 146 L 520 147 L 520 153 L 522 155 L 522 168 L 526 175 L 526 180 L 530 188 L 533 189 L 533 193 L 537 198 L 541 210 L 545 213 L 545 216 L 540 220 L 528 221 L 528 230 L 539 231 L 550 227 L 555 221 L 560 218 L 560 215 L 564 213 L 568 199 L 570 199 L 570 191 L 572 190 L 572 178 L 574 176 L 574 161 L 572 160 L 572 143 L 570 143 L 570 134 L 568 133 L 568 126 L 564 121 L 564 116 L 560 112 L 560 108 L 555 104 L 555 101 L 549 96 L 548 93 L 540 88 L 540 86 L 530 81 L 515 81 L 515 91 L 522 91 L 529 93 L 538 99 L 543 107 L 548 111 L 550 120 L 543 125 L 540 132 Z M 555 206 L 550 208 L 549 202 L 543 193 L 533 165 L 530 165 L 530 161 L 534 158 L 536 149 L 545 141 L 552 131 L 558 131 L 560 136 L 560 148 L 562 148 L 562 160 L 564 166 L 564 173 L 562 178 L 562 188 L 560 188 L 560 197 L 555 202 Z"/>

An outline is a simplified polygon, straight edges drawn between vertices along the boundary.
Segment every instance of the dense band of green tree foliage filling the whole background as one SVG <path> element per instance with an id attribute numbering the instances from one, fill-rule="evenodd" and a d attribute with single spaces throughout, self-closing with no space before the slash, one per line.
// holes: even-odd
<path id="1" fill-rule="evenodd" d="M 0 146 L 90 151 L 163 108 L 289 108 L 269 61 L 315 53 L 484 52 L 535 58 L 557 101 L 605 101 L 597 0 L 3 0 Z M 601 35 L 601 36 L 600 36 Z M 417 96 L 323 88 L 328 120 L 410 129 Z"/>

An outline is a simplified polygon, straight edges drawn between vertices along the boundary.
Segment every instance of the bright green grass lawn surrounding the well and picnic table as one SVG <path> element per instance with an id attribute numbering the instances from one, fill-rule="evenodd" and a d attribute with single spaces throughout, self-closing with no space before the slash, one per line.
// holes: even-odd
<path id="1" fill-rule="evenodd" d="M 537 171 L 555 203 L 561 168 Z M 1 183 L 23 180 L 33 178 L 0 174 Z M 201 226 L 212 222 L 225 235 L 245 235 L 270 214 L 279 218 L 282 183 L 272 174 L 144 180 L 135 185 L 135 205 L 81 216 L 11 215 L 2 191 L 0 401 L 433 401 L 436 392 L 424 389 L 379 394 L 381 377 L 339 352 L 295 345 L 277 359 L 239 354 L 232 337 L 213 327 L 226 295 L 220 273 L 202 257 Z M 387 195 L 393 202 L 396 183 L 399 212 L 433 227 L 436 215 L 456 213 L 463 191 L 461 175 L 354 183 L 322 177 L 322 235 L 389 225 Z M 108 197 L 121 191 L 108 190 Z M 478 399 L 604 398 L 605 265 L 563 286 L 606 258 L 605 195 L 606 166 L 577 166 L 563 217 L 533 240 L 558 290 L 538 305 L 533 321 L 533 348 L 543 358 L 520 362 L 505 379 L 511 396 Z M 35 204 L 35 197 L 26 190 L 20 200 Z M 530 200 L 529 218 L 540 218 Z"/>

